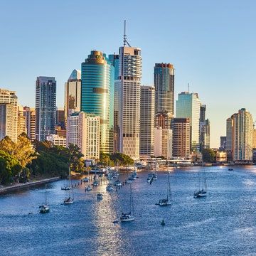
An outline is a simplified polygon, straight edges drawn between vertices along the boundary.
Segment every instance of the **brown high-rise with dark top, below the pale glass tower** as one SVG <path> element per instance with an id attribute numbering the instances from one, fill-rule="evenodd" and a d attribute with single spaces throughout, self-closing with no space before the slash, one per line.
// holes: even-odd
<path id="1" fill-rule="evenodd" d="M 186 159 L 190 156 L 190 119 L 174 118 L 173 125 L 173 156 Z"/>

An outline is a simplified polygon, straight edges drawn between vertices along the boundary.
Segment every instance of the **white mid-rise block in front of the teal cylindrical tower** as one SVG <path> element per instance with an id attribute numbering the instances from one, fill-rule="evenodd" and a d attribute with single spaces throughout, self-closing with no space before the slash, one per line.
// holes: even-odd
<path id="1" fill-rule="evenodd" d="M 68 116 L 67 144 L 75 144 L 85 159 L 100 159 L 100 117 L 85 112 Z"/>

